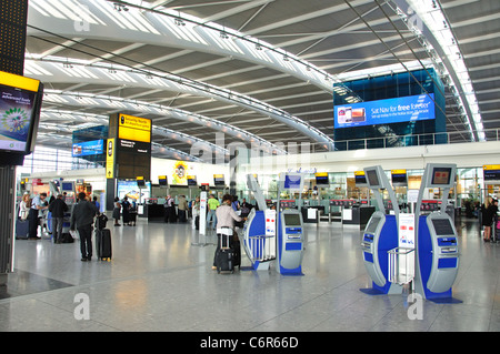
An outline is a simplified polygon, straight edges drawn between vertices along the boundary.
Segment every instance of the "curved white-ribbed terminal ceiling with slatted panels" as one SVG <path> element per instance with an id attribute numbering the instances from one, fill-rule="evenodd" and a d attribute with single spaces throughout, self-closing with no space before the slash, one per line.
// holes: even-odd
<path id="1" fill-rule="evenodd" d="M 70 148 L 71 132 L 92 123 L 72 115 L 97 123 L 123 112 L 152 119 L 153 153 L 177 159 L 228 155 L 241 142 L 276 154 L 289 143 L 332 150 L 333 82 L 422 65 L 448 84 L 452 140 L 488 140 L 500 127 L 496 0 L 428 0 L 414 11 L 412 0 L 29 3 L 24 74 L 46 85 L 46 145 Z M 451 49 L 426 17 L 437 13 Z"/>

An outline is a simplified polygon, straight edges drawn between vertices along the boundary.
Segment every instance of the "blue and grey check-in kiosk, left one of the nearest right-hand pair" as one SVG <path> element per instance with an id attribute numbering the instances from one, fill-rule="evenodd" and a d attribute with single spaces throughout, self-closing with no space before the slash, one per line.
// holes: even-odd
<path id="1" fill-rule="evenodd" d="M 378 211 L 371 215 L 361 242 L 364 266 L 373 282 L 371 290 L 362 291 L 376 294 L 401 294 L 402 286 L 389 280 L 389 251 L 398 247 L 399 208 L 396 194 L 381 166 L 366 168 L 364 175 L 368 186 L 376 196 Z M 394 214 L 386 214 L 380 190 L 388 191 L 394 205 Z"/>

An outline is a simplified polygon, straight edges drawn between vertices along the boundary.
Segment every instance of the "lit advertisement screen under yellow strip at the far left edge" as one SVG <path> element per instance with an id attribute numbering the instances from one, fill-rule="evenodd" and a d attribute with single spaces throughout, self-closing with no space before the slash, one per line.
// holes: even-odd
<path id="1" fill-rule="evenodd" d="M 0 149 L 24 151 L 36 92 L 0 85 Z"/>

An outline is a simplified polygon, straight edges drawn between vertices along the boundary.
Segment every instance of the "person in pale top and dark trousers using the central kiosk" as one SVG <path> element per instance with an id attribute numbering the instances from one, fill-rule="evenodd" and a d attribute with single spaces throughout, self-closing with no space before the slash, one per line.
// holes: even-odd
<path id="1" fill-rule="evenodd" d="M 232 249 L 234 251 L 234 259 L 238 259 L 239 255 L 239 241 L 238 235 L 234 232 L 234 221 L 240 222 L 243 220 L 247 220 L 247 218 L 240 218 L 237 215 L 234 210 L 232 209 L 232 196 L 230 194 L 224 194 L 222 196 L 222 204 L 217 208 L 216 214 L 217 214 L 217 249 L 216 254 L 213 256 L 213 266 L 212 270 L 218 269 L 218 262 L 219 262 L 219 253 L 221 251 L 221 242 L 224 242 L 223 239 L 228 239 L 226 241 L 226 245 L 228 249 Z M 230 232 L 227 232 L 227 230 L 223 229 L 230 229 Z M 230 236 L 232 234 L 232 236 Z M 228 244 L 229 243 L 229 244 Z M 238 260 L 232 264 L 232 266 L 238 265 Z"/>

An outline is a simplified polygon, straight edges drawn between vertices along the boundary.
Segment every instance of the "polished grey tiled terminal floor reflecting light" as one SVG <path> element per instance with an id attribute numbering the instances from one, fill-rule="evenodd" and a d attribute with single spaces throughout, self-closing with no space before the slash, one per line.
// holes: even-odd
<path id="1" fill-rule="evenodd" d="M 0 331 L 500 331 L 500 244 L 483 243 L 476 220 L 457 225 L 460 302 L 424 301 L 421 320 L 410 320 L 408 293 L 360 291 L 371 283 L 361 233 L 338 225 L 307 225 L 303 276 L 217 274 L 214 246 L 192 244 L 213 240 L 190 224 L 111 224 L 111 262 L 81 262 L 78 242 L 17 240 Z"/>

